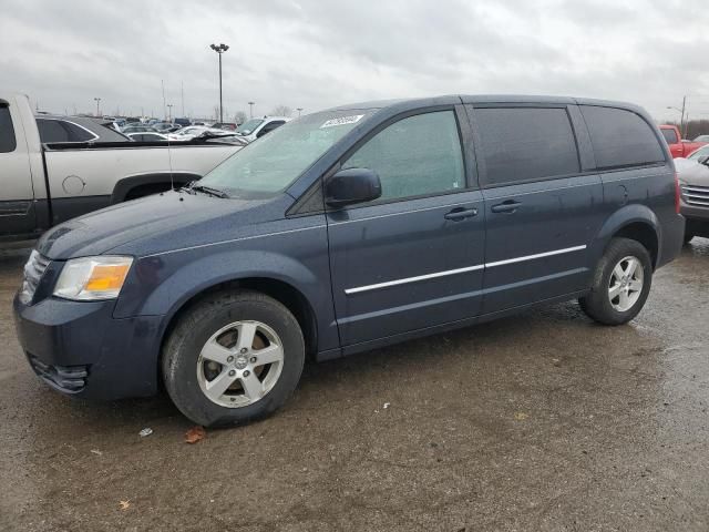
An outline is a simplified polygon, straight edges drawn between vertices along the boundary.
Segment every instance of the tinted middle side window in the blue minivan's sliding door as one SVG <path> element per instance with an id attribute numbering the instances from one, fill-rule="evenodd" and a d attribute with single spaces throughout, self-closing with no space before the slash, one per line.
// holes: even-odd
<path id="1" fill-rule="evenodd" d="M 580 171 L 565 109 L 475 109 L 490 185 L 534 181 Z"/>

